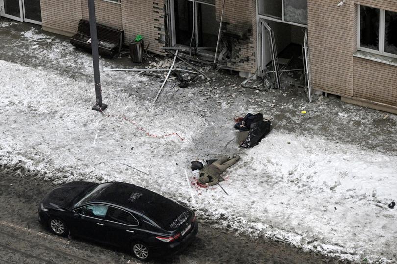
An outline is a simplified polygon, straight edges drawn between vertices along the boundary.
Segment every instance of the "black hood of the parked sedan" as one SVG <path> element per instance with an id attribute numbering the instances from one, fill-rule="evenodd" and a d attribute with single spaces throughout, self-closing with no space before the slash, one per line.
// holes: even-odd
<path id="1" fill-rule="evenodd" d="M 50 191 L 44 198 L 43 204 L 69 208 L 76 198 L 96 185 L 98 184 L 87 181 L 73 181 L 63 184 Z"/>

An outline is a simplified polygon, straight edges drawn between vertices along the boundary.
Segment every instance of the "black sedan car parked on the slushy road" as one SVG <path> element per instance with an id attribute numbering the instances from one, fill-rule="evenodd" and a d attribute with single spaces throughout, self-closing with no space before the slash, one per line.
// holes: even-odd
<path id="1" fill-rule="evenodd" d="M 198 231 L 191 210 L 122 182 L 61 185 L 40 203 L 39 221 L 56 235 L 121 246 L 143 261 L 180 251 Z"/>

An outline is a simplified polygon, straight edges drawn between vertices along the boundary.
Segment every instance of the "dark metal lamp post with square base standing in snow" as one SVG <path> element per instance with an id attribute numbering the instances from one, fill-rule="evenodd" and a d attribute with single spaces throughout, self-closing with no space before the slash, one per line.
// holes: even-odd
<path id="1" fill-rule="evenodd" d="M 96 104 L 92 107 L 92 110 L 103 112 L 107 108 L 107 105 L 102 103 L 102 88 L 100 83 L 100 71 L 99 71 L 97 22 L 95 19 L 94 0 L 88 0 L 88 12 L 90 16 L 92 64 L 94 68 L 95 98 L 96 98 Z"/>

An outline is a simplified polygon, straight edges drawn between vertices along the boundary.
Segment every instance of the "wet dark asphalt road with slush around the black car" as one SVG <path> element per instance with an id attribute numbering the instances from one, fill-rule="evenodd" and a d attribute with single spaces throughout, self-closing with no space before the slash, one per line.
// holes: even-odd
<path id="1" fill-rule="evenodd" d="M 4 167 L 0 167 L 0 263 L 139 263 L 117 248 L 52 235 L 38 223 L 37 208 L 54 185 Z M 196 240 L 184 252 L 151 263 L 341 263 L 283 242 L 251 240 L 200 220 L 199 224 Z"/>

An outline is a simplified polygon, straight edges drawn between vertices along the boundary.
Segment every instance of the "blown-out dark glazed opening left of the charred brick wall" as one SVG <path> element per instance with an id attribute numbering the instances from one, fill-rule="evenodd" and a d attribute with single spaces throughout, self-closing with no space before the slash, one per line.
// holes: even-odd
<path id="1" fill-rule="evenodd" d="M 170 44 L 215 51 L 218 38 L 215 0 L 169 0 Z"/>

